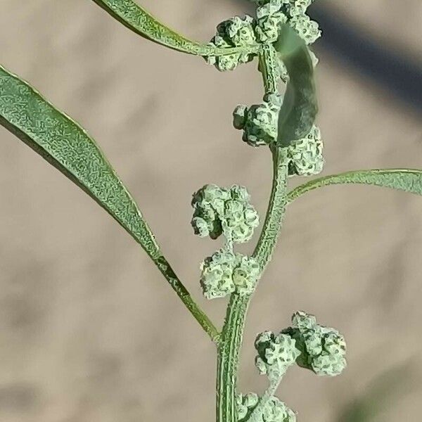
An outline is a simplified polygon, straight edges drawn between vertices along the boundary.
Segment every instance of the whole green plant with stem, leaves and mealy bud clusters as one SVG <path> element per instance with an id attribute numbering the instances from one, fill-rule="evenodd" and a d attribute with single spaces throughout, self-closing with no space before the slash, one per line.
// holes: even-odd
<path id="1" fill-rule="evenodd" d="M 346 366 L 345 339 L 315 316 L 295 312 L 292 325 L 279 333 L 263 331 L 255 340 L 255 366 L 267 377 L 263 393 L 237 388 L 245 316 L 258 281 L 271 260 L 286 206 L 304 193 L 331 184 L 385 186 L 422 195 L 422 170 L 355 170 L 313 179 L 288 191 L 289 177 L 307 177 L 324 166 L 314 67 L 310 45 L 321 36 L 307 15 L 312 0 L 253 0 L 255 16 L 234 17 L 217 26 L 209 44 L 178 34 L 132 0 L 94 0 L 127 28 L 183 53 L 202 56 L 219 71 L 257 59 L 264 95 L 252 106 L 237 106 L 233 124 L 243 141 L 266 147 L 273 162 L 267 215 L 251 255 L 234 249 L 252 239 L 260 218 L 243 186 L 206 184 L 193 194 L 193 231 L 222 247 L 205 257 L 198 275 L 207 299 L 229 296 L 221 330 L 196 304 L 175 274 L 141 210 L 94 139 L 27 82 L 0 66 L 0 124 L 39 153 L 101 205 L 147 252 L 175 293 L 217 345 L 217 422 L 294 422 L 296 414 L 276 397 L 286 371 L 298 365 L 318 376 L 336 376 Z M 279 86 L 286 84 L 281 94 Z"/>

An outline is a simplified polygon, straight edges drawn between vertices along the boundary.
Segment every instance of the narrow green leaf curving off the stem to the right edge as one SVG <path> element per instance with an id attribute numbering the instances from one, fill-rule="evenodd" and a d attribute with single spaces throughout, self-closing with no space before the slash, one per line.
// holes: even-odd
<path id="1" fill-rule="evenodd" d="M 332 174 L 331 176 L 311 180 L 293 189 L 293 191 L 288 193 L 288 203 L 291 203 L 306 192 L 333 184 L 367 184 L 422 195 L 422 170 L 356 170 L 354 172 Z"/>

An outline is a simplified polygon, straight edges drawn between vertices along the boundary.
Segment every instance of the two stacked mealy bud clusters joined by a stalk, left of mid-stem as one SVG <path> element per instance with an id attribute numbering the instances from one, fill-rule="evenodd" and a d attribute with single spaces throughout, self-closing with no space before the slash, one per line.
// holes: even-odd
<path id="1" fill-rule="evenodd" d="M 192 226 L 199 236 L 215 239 L 221 234 L 227 239 L 200 265 L 200 285 L 205 298 L 223 298 L 231 293 L 253 293 L 261 268 L 254 257 L 233 251 L 233 243 L 250 240 L 260 219 L 250 204 L 250 195 L 243 186 L 221 188 L 208 184 L 193 194 Z"/>

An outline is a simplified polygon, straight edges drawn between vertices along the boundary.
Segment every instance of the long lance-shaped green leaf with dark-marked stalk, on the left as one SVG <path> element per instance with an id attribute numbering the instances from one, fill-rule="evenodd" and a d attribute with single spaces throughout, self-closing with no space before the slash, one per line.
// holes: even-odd
<path id="1" fill-rule="evenodd" d="M 134 199 L 95 141 L 29 84 L 0 66 L 0 124 L 94 198 L 151 257 L 205 331 L 217 330 L 162 255 Z"/>

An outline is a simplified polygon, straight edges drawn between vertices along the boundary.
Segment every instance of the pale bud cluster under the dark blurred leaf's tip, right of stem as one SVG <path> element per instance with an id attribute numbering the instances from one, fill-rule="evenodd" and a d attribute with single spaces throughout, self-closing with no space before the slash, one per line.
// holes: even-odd
<path id="1" fill-rule="evenodd" d="M 322 148 L 321 132 L 314 125 L 306 138 L 299 139 L 288 147 L 290 176 L 312 176 L 320 173 L 324 167 Z"/>

